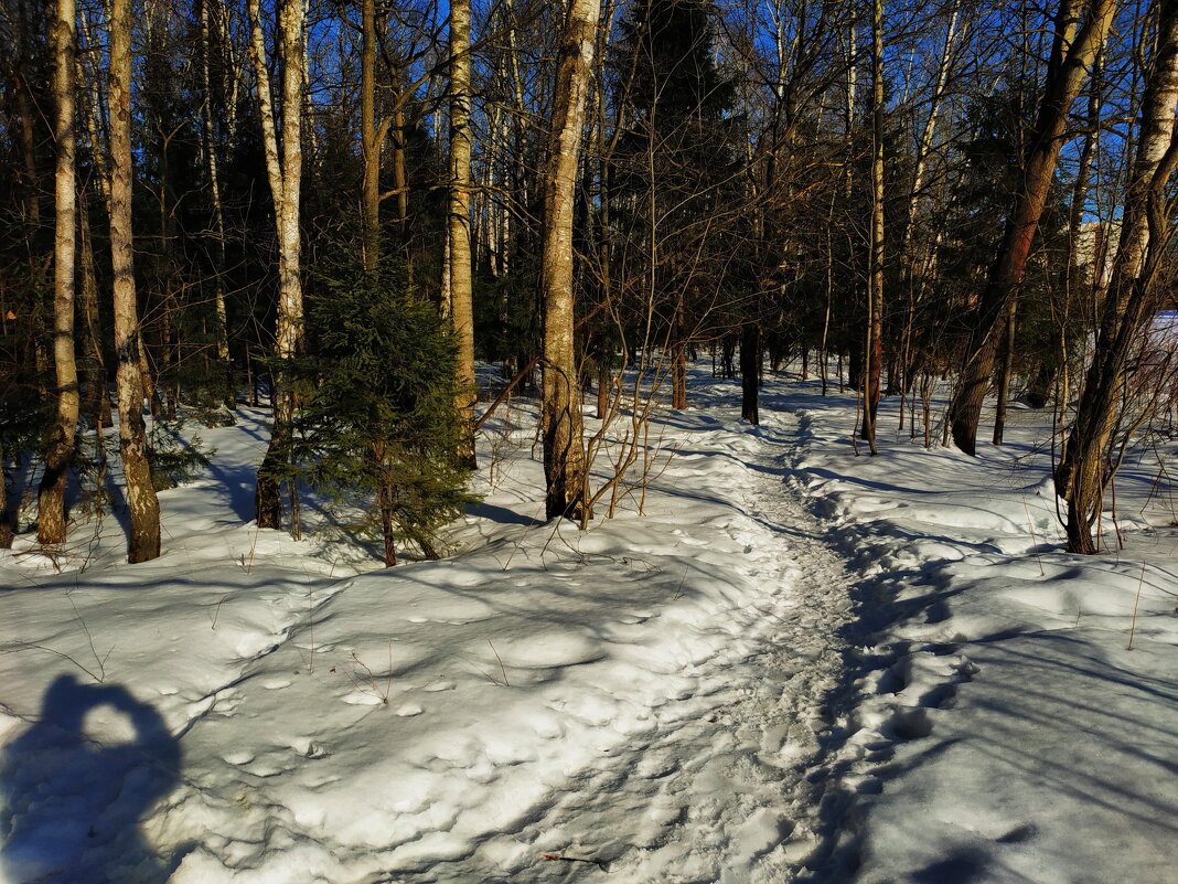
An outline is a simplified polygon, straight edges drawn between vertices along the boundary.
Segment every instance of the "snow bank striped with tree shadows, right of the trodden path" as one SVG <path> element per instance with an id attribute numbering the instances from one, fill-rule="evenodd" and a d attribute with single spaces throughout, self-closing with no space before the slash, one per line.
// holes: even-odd
<path id="1" fill-rule="evenodd" d="M 832 737 L 845 829 L 818 880 L 1169 880 L 1178 859 L 1178 534 L 1144 462 L 1127 547 L 1063 552 L 1050 415 L 1007 446 L 855 457 L 846 405 L 795 395 L 796 481 L 862 574 L 860 679 Z M 841 437 L 840 437 L 841 429 Z M 1169 484 L 1166 481 L 1164 484 Z"/>

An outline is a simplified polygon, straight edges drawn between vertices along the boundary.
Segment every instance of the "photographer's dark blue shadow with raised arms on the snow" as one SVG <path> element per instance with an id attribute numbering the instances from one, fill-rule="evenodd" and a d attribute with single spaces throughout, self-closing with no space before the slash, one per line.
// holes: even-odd
<path id="1" fill-rule="evenodd" d="M 38 723 L 4 752 L 0 870 L 9 882 L 163 884 L 176 863 L 139 820 L 179 772 L 179 743 L 152 706 L 59 677 Z"/>

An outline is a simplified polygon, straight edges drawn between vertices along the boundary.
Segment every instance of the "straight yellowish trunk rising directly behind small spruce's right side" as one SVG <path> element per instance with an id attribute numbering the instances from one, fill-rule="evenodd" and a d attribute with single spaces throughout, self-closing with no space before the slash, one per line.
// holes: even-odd
<path id="1" fill-rule="evenodd" d="M 458 336 L 456 407 L 463 431 L 458 459 L 475 467 L 475 316 L 470 239 L 470 0 L 450 4 L 450 319 Z"/>

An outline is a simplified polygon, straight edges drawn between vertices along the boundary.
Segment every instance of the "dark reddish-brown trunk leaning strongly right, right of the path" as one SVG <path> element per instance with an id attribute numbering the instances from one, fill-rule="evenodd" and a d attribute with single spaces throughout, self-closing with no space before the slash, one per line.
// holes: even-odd
<path id="1" fill-rule="evenodd" d="M 998 335 L 994 330 L 1023 282 L 1039 217 L 1047 202 L 1055 161 L 1064 144 L 1068 112 L 1084 85 L 1088 68 L 1104 45 L 1117 11 L 1116 0 L 1092 0 L 1084 26 L 1077 31 L 1080 1 L 1061 0 L 1055 17 L 1055 39 L 1052 45 L 1043 104 L 1024 160 L 1018 200 L 1007 219 L 1002 242 L 981 291 L 969 334 L 966 362 L 949 404 L 948 420 L 953 442 L 971 455 L 977 453 L 981 404 L 994 371 L 998 347 Z"/>

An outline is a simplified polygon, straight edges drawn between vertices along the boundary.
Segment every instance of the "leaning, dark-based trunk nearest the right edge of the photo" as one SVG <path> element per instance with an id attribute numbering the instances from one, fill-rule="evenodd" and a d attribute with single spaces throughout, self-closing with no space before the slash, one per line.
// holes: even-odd
<path id="1" fill-rule="evenodd" d="M 1166 183 L 1178 165 L 1178 0 L 1156 0 L 1157 42 L 1145 79 L 1139 139 L 1121 213 L 1120 246 L 1105 296 L 1092 364 L 1055 471 L 1055 492 L 1067 504 L 1067 548 L 1097 550 L 1092 537 L 1117 456 L 1110 443 L 1126 365 L 1150 321 L 1151 284 L 1172 226 L 1165 217 Z"/>

